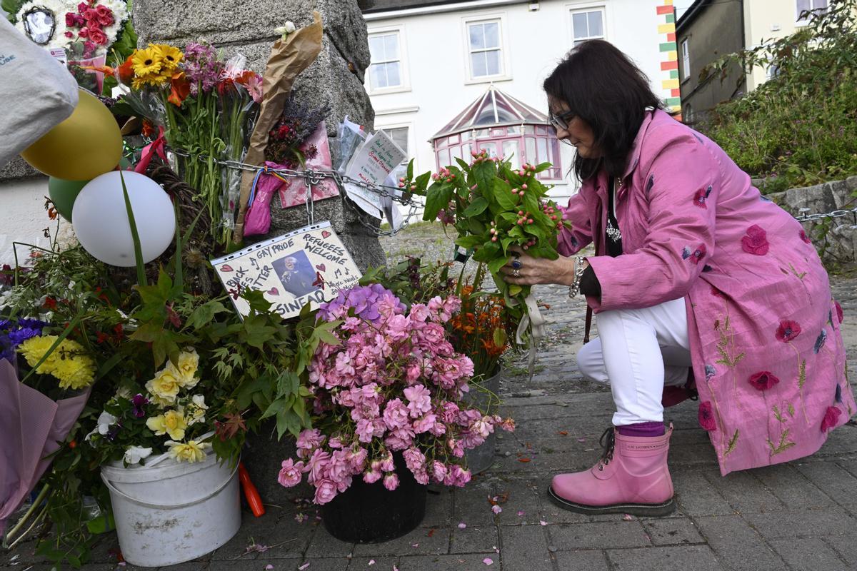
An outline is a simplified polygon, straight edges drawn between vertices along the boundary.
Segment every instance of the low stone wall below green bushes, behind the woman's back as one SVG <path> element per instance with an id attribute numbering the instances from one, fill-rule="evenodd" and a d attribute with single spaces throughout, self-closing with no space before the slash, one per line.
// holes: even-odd
<path id="1" fill-rule="evenodd" d="M 813 187 L 792 188 L 768 197 L 792 216 L 850 210 L 857 207 L 857 176 L 844 181 L 831 181 Z M 825 221 L 826 220 L 826 221 Z M 857 261 L 857 213 L 803 223 L 806 234 L 812 238 L 826 263 L 847 264 Z M 829 223 L 830 230 L 818 237 L 813 230 L 819 224 Z"/>

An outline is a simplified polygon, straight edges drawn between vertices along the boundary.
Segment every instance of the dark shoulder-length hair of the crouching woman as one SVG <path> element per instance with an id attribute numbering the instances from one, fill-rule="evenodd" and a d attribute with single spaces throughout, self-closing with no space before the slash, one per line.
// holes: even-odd
<path id="1" fill-rule="evenodd" d="M 646 107 L 663 109 L 640 68 L 602 39 L 590 39 L 569 51 L 543 88 L 549 99 L 565 102 L 595 134 L 594 145 L 602 156 L 574 158 L 574 174 L 580 181 L 601 169 L 611 176 L 624 175 Z"/>

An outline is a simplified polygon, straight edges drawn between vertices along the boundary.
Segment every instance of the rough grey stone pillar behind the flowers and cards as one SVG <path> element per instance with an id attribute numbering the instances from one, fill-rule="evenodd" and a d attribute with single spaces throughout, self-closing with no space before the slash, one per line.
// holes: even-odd
<path id="1" fill-rule="evenodd" d="M 185 45 L 207 40 L 223 48 L 226 57 L 236 52 L 247 57 L 250 67 L 265 70 L 271 46 L 278 38 L 274 28 L 286 21 L 296 27 L 313 21 L 313 11 L 321 14 L 324 39 L 321 54 L 297 78 L 294 92 L 309 104 L 327 104 L 327 134 L 335 137 L 336 125 L 348 115 L 351 121 L 371 130 L 375 112 L 369 95 L 363 89 L 363 74 L 369 67 L 369 41 L 366 24 L 357 0 L 198 0 L 176 3 L 169 0 L 135 0 L 134 23 L 140 45 L 148 42 Z M 358 215 L 356 207 L 344 205 L 340 197 L 318 200 L 314 204 L 315 222 L 330 220 L 357 266 L 385 262 L 381 243 L 364 223 L 377 228 L 377 221 Z M 289 209 L 272 205 L 271 230 L 267 236 L 253 236 L 259 241 L 282 235 L 307 223 L 303 205 Z M 358 219 L 363 217 L 363 222 Z M 280 462 L 294 455 L 294 440 L 284 437 L 277 442 L 273 423 L 263 425 L 260 434 L 248 438 L 243 459 L 262 499 L 278 503 L 285 491 L 277 483 Z"/>

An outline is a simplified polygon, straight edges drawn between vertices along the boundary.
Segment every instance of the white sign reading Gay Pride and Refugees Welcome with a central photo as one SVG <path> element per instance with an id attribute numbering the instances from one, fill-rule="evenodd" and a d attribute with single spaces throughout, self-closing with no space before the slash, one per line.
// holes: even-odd
<path id="1" fill-rule="evenodd" d="M 360 271 L 330 222 L 305 226 L 212 260 L 220 281 L 242 316 L 247 301 L 243 288 L 261 291 L 283 318 L 332 300 L 340 289 L 357 285 Z"/>

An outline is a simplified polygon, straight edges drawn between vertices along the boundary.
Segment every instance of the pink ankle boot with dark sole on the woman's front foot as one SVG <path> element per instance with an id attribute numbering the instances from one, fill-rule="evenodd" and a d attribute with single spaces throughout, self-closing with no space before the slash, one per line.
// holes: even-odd
<path id="1" fill-rule="evenodd" d="M 583 472 L 558 474 L 548 496 L 560 508 L 581 514 L 666 515 L 675 509 L 667 468 L 669 437 L 626 437 L 604 431 L 604 455 Z"/>

